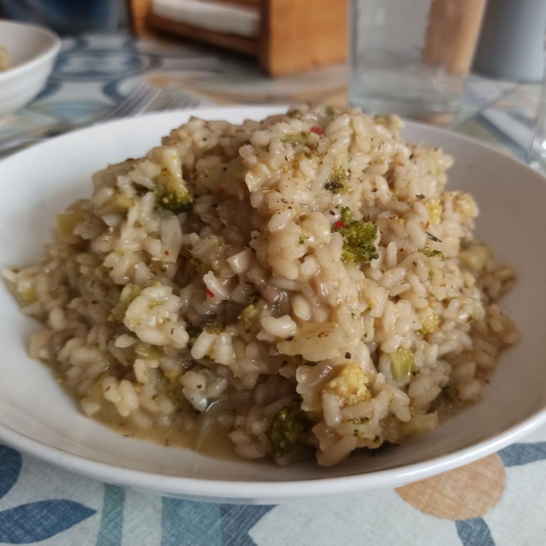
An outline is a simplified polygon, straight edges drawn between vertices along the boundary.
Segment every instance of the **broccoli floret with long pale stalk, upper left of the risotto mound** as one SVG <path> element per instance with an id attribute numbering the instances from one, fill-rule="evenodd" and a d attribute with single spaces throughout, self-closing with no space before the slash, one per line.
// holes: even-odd
<path id="1" fill-rule="evenodd" d="M 163 209 L 180 214 L 191 208 L 192 194 L 182 178 L 182 163 L 177 150 L 169 146 L 158 146 L 150 152 L 150 158 L 161 167 L 155 182 L 156 203 Z"/>

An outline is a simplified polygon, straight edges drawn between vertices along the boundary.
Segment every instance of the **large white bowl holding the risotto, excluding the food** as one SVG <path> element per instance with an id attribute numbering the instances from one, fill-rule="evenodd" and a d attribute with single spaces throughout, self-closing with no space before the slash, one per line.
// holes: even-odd
<path id="1" fill-rule="evenodd" d="M 278 109 L 179 111 L 121 120 L 60 136 L 0 162 L 0 265 L 25 263 L 49 239 L 55 213 L 89 195 L 90 175 L 138 157 L 191 114 L 240 122 Z M 486 146 L 408 123 L 405 136 L 440 145 L 455 157 L 449 186 L 471 191 L 482 212 L 478 236 L 498 260 L 511 259 L 519 279 L 502 307 L 523 341 L 502 354 L 482 401 L 430 434 L 377 456 L 354 454 L 322 468 L 211 459 L 191 450 L 125 438 L 87 419 L 50 371 L 27 357 L 38 325 L 0 286 L 0 440 L 54 464 L 106 482 L 194 500 L 278 503 L 393 487 L 483 457 L 546 422 L 544 323 L 546 184 L 535 171 Z"/>

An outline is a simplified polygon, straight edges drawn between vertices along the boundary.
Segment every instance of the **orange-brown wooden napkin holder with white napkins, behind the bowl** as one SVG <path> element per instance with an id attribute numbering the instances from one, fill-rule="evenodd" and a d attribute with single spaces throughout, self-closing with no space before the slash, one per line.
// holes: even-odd
<path id="1" fill-rule="evenodd" d="M 151 0 L 128 0 L 134 34 L 179 35 L 258 59 L 272 76 L 305 72 L 347 58 L 347 0 L 216 0 L 259 9 L 257 38 L 215 32 L 155 15 Z"/>

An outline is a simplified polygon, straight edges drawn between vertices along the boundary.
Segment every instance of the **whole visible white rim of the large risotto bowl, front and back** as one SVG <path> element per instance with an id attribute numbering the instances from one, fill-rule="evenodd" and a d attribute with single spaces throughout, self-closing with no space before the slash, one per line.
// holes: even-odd
<path id="1" fill-rule="evenodd" d="M 150 112 L 139 116 L 140 122 L 145 122 L 147 117 L 174 116 L 176 114 L 187 115 L 213 115 L 218 111 L 259 111 L 258 115 L 276 114 L 286 110 L 285 105 L 230 105 L 230 106 L 204 106 L 197 109 L 175 110 L 170 112 Z M 253 114 L 249 114 L 253 115 Z M 108 126 L 110 123 L 135 122 L 134 118 L 111 121 L 87 128 L 78 129 L 72 133 L 93 131 Z M 502 161 L 517 164 L 520 169 L 541 179 L 546 179 L 528 165 L 518 161 L 511 156 L 502 153 L 494 147 L 480 141 L 468 138 L 459 133 L 449 132 L 444 128 L 426 126 L 425 124 L 411 121 L 404 121 L 406 128 L 426 128 L 431 134 L 449 133 L 450 138 L 471 143 L 472 146 L 497 156 Z M 65 139 L 69 134 L 61 135 L 57 139 Z M 48 146 L 49 142 L 38 146 Z M 10 161 L 11 158 L 27 153 L 27 150 L 20 151 L 3 161 Z M 2 163 L 2 160 L 0 160 Z M 17 432 L 8 425 L 0 423 L 0 441 L 9 446 L 19 449 L 21 452 L 35 456 L 41 460 L 60 466 L 66 470 L 77 472 L 84 476 L 98 479 L 102 482 L 127 486 L 129 488 L 141 489 L 158 494 L 191 498 L 193 500 L 207 502 L 231 502 L 231 503 L 258 503 L 275 504 L 286 501 L 312 498 L 318 495 L 344 495 L 356 494 L 358 492 L 378 490 L 382 488 L 394 488 L 420 479 L 434 476 L 454 468 L 469 464 L 480 458 L 497 452 L 503 447 L 517 441 L 519 438 L 529 434 L 539 426 L 546 424 L 546 407 L 538 407 L 529 417 L 518 423 L 509 426 L 502 432 L 492 431 L 491 435 L 484 440 L 472 443 L 470 446 L 453 449 L 444 454 L 432 456 L 412 464 L 401 465 L 394 468 L 385 468 L 372 472 L 353 473 L 346 476 L 335 476 L 329 478 L 313 477 L 301 480 L 230 480 L 203 477 L 173 476 L 147 470 L 136 470 L 118 466 L 110 462 L 102 462 L 88 458 L 83 455 L 70 453 L 59 447 L 51 446 L 43 441 L 34 440 Z M 248 464 L 251 464 L 249 462 Z"/>

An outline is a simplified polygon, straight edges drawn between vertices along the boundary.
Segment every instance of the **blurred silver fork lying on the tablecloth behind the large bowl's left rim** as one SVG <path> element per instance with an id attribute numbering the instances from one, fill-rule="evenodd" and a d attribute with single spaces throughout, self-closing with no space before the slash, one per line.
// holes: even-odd
<path id="1" fill-rule="evenodd" d="M 152 87 L 148 84 L 140 84 L 138 87 L 135 87 L 135 89 L 130 92 L 126 98 L 114 106 L 114 108 L 107 111 L 105 115 L 94 122 L 93 125 L 126 117 L 130 114 L 138 115 L 150 105 L 152 100 L 155 99 L 160 92 L 161 91 L 157 87 Z M 195 100 L 187 95 L 173 95 L 170 97 L 168 102 L 162 106 L 162 110 L 193 108 L 198 104 L 198 100 Z M 17 148 L 41 142 L 48 138 L 52 138 L 53 136 L 67 133 L 70 130 L 79 129 L 85 125 L 85 123 L 64 121 L 46 127 L 28 130 L 25 133 L 15 136 L 14 138 L 0 141 L 0 154 L 15 151 Z"/>

